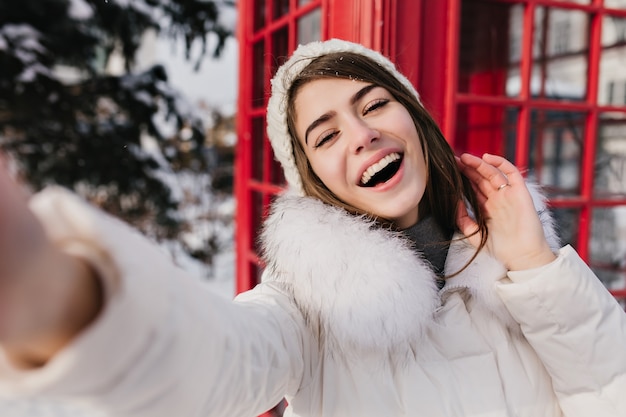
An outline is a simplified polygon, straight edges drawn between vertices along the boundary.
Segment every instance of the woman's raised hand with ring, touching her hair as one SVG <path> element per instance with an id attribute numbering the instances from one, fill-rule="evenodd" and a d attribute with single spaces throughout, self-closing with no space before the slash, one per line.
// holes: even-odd
<path id="1" fill-rule="evenodd" d="M 457 158 L 461 172 L 472 183 L 487 219 L 487 249 L 512 271 L 550 263 L 555 255 L 548 246 L 539 216 L 519 170 L 506 159 L 485 154 L 482 158 L 463 154 Z M 478 246 L 478 226 L 459 204 L 457 226 Z"/>

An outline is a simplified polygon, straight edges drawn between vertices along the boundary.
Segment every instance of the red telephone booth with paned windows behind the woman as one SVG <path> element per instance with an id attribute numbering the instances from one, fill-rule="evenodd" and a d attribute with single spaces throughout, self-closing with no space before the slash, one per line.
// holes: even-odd
<path id="1" fill-rule="evenodd" d="M 269 80 L 299 43 L 377 49 L 454 148 L 542 184 L 564 242 L 626 298 L 626 0 L 240 0 L 237 288 L 284 178 L 265 137 Z"/>

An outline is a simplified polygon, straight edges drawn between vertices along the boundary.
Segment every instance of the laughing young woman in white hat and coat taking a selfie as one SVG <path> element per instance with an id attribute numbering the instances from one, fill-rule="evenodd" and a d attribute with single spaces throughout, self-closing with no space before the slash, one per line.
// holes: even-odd
<path id="1" fill-rule="evenodd" d="M 283 396 L 289 416 L 626 415 L 623 311 L 557 250 L 517 169 L 455 159 L 386 58 L 300 47 L 267 117 L 289 191 L 265 222 L 263 283 L 223 302 L 117 221 L 44 192 L 30 207 L 65 256 L 38 264 L 73 265 L 64 287 L 82 290 L 61 304 L 91 301 L 30 356 L 42 330 L 3 302 L 18 330 L 0 394 L 115 416 L 252 416 Z M 16 287 L 47 282 L 23 275 Z"/>

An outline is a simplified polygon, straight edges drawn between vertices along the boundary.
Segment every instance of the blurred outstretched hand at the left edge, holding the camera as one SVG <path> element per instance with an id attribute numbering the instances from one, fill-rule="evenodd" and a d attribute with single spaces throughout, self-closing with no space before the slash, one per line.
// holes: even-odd
<path id="1" fill-rule="evenodd" d="M 0 155 L 0 346 L 16 366 L 45 364 L 101 308 L 97 277 L 55 247 Z"/>

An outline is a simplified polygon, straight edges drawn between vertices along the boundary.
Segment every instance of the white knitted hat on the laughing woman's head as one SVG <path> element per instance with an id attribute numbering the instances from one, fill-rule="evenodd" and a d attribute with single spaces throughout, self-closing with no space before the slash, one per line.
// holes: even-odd
<path id="1" fill-rule="evenodd" d="M 291 191 L 302 196 L 305 195 L 302 178 L 296 167 L 291 137 L 287 127 L 287 93 L 293 80 L 311 61 L 319 56 L 335 52 L 352 52 L 372 59 L 393 74 L 419 100 L 419 94 L 415 91 L 415 87 L 396 70 L 396 66 L 389 59 L 363 45 L 331 39 L 298 46 L 291 58 L 278 68 L 276 75 L 272 78 L 272 94 L 267 104 L 267 136 L 272 144 L 272 149 L 274 149 L 274 156 L 283 167 L 285 179 Z"/>

